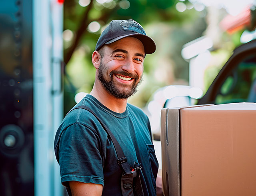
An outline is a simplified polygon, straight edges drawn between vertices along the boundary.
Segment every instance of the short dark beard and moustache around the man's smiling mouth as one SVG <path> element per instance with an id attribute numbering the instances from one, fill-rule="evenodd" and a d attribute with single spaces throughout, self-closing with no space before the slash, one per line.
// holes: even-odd
<path id="1" fill-rule="evenodd" d="M 137 92 L 137 87 L 142 82 L 142 76 L 139 78 L 139 76 L 137 74 L 135 75 L 135 74 L 127 73 L 124 71 L 110 72 L 110 74 L 109 74 L 110 81 L 108 81 L 108 80 L 106 80 L 106 78 L 104 78 L 104 70 L 106 70 L 106 68 L 104 68 L 104 65 L 102 64 L 102 62 L 100 62 L 100 67 L 98 69 L 98 80 L 100 80 L 100 82 L 102 83 L 104 88 L 110 94 L 112 94 L 115 98 L 118 98 L 118 99 L 127 99 L 128 97 L 132 96 L 134 93 Z M 134 78 L 134 82 L 130 88 L 130 91 L 122 92 L 118 88 L 118 86 L 115 85 L 114 78 L 113 78 L 115 74 L 119 74 L 122 76 L 129 76 L 131 78 Z M 138 83 L 138 84 L 136 84 L 136 83 Z M 125 87 L 125 84 L 124 84 L 124 87 Z"/>

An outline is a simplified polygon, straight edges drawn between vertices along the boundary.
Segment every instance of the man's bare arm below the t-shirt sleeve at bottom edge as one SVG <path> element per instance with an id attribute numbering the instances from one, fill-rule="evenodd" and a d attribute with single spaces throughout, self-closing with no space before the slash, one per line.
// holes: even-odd
<path id="1" fill-rule="evenodd" d="M 103 186 L 101 184 L 69 181 L 72 196 L 101 196 Z"/>

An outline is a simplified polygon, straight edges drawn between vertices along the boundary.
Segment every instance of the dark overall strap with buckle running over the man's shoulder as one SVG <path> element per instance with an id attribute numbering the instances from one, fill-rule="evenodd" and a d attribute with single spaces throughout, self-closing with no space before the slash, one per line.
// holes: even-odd
<path id="1" fill-rule="evenodd" d="M 131 172 L 130 165 L 127 162 L 126 156 L 124 156 L 124 152 L 123 152 L 121 146 L 119 145 L 118 141 L 116 140 L 116 137 L 112 134 L 112 132 L 108 129 L 108 127 L 104 124 L 104 122 L 102 122 L 102 120 L 100 120 L 100 118 L 98 118 L 98 116 L 88 106 L 77 106 L 76 108 L 73 108 L 72 110 L 79 109 L 79 108 L 88 110 L 95 116 L 95 118 L 97 118 L 97 120 L 100 122 L 100 124 L 102 125 L 104 130 L 108 133 L 108 135 L 110 136 L 110 138 L 114 144 L 114 148 L 116 150 L 116 154 L 118 157 L 118 160 L 117 160 L 118 164 L 120 165 L 120 167 L 122 168 L 122 170 L 125 173 L 130 173 Z M 68 113 L 70 113 L 72 110 L 70 110 Z M 68 113 L 66 115 L 68 115 Z"/>

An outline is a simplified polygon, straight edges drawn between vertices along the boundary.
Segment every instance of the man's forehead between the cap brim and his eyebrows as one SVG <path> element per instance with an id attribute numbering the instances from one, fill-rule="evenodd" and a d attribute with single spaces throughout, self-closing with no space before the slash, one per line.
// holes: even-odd
<path id="1" fill-rule="evenodd" d="M 144 46 L 140 40 L 134 37 L 126 37 L 111 44 L 106 44 L 106 48 L 109 50 L 122 49 L 127 52 L 142 53 L 145 54 Z"/>

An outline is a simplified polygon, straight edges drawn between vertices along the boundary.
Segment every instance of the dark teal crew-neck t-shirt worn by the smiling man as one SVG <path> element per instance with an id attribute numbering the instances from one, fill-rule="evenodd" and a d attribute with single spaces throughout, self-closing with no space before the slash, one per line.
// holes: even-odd
<path id="1" fill-rule="evenodd" d="M 91 108 L 114 134 L 131 167 L 134 162 L 142 164 L 140 175 L 144 195 L 156 195 L 158 162 L 146 114 L 131 104 L 127 104 L 123 113 L 113 112 L 91 95 L 74 107 L 80 105 Z M 122 196 L 122 170 L 116 151 L 93 114 L 82 108 L 72 110 L 58 128 L 54 148 L 61 182 L 69 194 L 68 181 L 74 180 L 102 184 L 103 196 Z"/>

